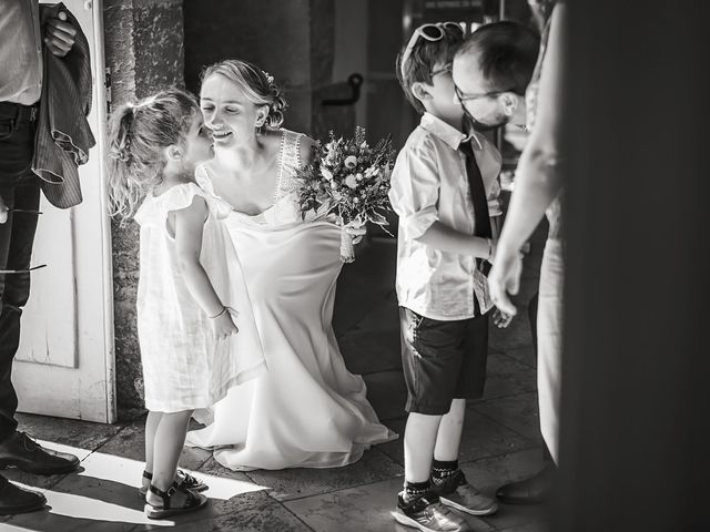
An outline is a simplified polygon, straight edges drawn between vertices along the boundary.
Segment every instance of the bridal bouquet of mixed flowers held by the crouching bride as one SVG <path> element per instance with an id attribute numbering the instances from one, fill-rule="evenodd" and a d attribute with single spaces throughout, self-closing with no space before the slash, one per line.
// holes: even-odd
<path id="1" fill-rule="evenodd" d="M 357 126 L 353 139 L 335 139 L 331 132 L 327 144 L 318 141 L 313 162 L 298 171 L 301 215 L 305 218 L 310 211 L 323 209 L 336 215 L 344 263 L 355 259 L 354 244 L 362 239 L 367 222 L 387 225 L 384 215 L 392 211 L 387 193 L 393 164 L 392 140 L 369 147 L 365 129 Z"/>

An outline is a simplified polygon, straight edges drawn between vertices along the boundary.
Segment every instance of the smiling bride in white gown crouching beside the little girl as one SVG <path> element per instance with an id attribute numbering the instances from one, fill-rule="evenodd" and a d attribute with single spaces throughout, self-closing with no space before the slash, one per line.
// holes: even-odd
<path id="1" fill-rule="evenodd" d="M 226 200 L 266 358 L 264 377 L 230 390 L 187 443 L 214 449 L 234 470 L 331 468 L 393 438 L 343 361 L 333 332 L 341 270 L 339 229 L 324 216 L 302 221 L 295 168 L 313 141 L 280 129 L 285 101 L 253 64 L 223 61 L 203 74 L 201 106 L 215 158 L 197 182 Z"/>

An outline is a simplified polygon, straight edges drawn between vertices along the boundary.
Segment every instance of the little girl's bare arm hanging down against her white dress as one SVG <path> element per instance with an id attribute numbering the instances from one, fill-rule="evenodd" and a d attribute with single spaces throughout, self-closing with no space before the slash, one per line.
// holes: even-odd
<path id="1" fill-rule="evenodd" d="M 175 248 L 178 267 L 185 279 L 190 295 L 200 308 L 211 318 L 217 337 L 236 332 L 229 311 L 214 291 L 206 272 L 200 263 L 202 250 L 202 231 L 207 217 L 207 205 L 203 197 L 194 196 L 192 204 L 180 211 L 173 211 L 175 222 Z"/>

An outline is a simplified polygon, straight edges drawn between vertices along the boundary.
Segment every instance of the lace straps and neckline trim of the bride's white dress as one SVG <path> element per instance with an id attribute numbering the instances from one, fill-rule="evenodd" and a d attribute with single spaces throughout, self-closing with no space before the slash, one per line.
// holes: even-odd
<path id="1" fill-rule="evenodd" d="M 298 208 L 296 191 L 298 187 L 297 170 L 302 166 L 301 161 L 301 139 L 303 133 L 288 130 L 281 130 L 281 147 L 278 150 L 278 175 L 274 191 L 273 204 L 258 214 L 246 214 L 240 211 L 232 211 L 229 222 L 236 222 L 256 226 L 284 226 L 303 222 Z M 200 166 L 195 171 L 197 184 L 220 197 L 212 185 L 210 170 Z M 306 221 L 312 221 L 314 216 L 308 214 Z"/>

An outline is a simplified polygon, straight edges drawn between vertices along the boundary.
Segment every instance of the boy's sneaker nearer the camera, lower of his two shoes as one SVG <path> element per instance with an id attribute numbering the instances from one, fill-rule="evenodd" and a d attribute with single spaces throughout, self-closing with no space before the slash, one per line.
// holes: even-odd
<path id="1" fill-rule="evenodd" d="M 442 504 L 434 493 L 424 493 L 409 502 L 405 502 L 403 495 L 400 492 L 397 498 L 395 519 L 398 523 L 424 532 L 471 532 L 464 518 Z"/>

